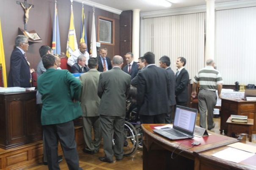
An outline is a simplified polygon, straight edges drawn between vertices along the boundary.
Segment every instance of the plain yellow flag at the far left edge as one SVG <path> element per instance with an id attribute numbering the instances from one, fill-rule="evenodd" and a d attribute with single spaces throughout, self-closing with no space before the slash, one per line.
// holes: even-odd
<path id="1" fill-rule="evenodd" d="M 0 64 L 2 65 L 3 87 L 7 88 L 6 59 L 5 59 L 5 55 L 4 55 L 4 49 L 3 49 L 3 36 L 2 36 L 1 19 L 0 19 Z"/>

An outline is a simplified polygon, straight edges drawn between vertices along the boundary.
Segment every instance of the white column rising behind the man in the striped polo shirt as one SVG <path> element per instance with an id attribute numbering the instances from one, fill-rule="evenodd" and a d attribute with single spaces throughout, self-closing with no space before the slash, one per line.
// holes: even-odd
<path id="1" fill-rule="evenodd" d="M 205 61 L 215 58 L 215 0 L 206 1 L 206 50 Z"/>

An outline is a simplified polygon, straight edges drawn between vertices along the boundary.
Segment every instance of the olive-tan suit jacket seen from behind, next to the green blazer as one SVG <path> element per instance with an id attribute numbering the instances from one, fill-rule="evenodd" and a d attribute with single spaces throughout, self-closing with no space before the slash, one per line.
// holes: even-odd
<path id="1" fill-rule="evenodd" d="M 88 72 L 80 75 L 82 84 L 81 107 L 83 117 L 99 116 L 100 98 L 97 94 L 100 72 L 96 69 L 90 69 Z"/>

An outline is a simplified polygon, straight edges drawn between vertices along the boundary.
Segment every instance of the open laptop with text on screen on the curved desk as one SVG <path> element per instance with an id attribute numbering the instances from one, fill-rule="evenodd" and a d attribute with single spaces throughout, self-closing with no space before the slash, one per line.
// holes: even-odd
<path id="1" fill-rule="evenodd" d="M 153 131 L 170 140 L 193 138 L 197 112 L 197 109 L 176 105 L 173 128 Z"/>

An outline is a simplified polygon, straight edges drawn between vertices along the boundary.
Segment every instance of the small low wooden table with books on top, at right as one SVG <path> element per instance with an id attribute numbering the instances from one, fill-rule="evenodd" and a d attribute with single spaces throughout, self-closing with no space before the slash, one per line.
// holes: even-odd
<path id="1" fill-rule="evenodd" d="M 241 133 L 248 134 L 249 141 L 251 142 L 253 119 L 248 119 L 247 123 L 232 122 L 229 117 L 226 121 L 228 124 L 228 136 L 232 137 L 232 134 L 239 135 Z"/>

